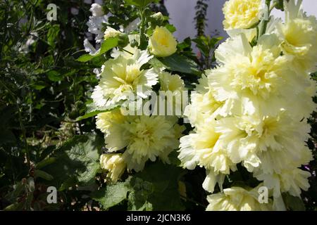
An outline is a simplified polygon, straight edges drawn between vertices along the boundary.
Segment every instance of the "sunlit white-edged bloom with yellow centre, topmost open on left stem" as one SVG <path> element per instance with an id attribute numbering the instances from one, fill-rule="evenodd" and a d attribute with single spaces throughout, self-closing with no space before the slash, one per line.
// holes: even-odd
<path id="1" fill-rule="evenodd" d="M 147 51 L 135 51 L 132 58 L 118 56 L 104 63 L 100 81 L 92 94 L 98 106 L 111 105 L 127 100 L 132 94 L 146 98 L 151 94 L 151 86 L 158 82 L 155 68 L 141 70 L 152 56 Z"/>

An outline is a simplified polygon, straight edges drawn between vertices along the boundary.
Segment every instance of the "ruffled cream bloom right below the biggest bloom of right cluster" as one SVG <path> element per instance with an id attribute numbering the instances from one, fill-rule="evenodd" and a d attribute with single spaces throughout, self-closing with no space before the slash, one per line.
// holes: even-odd
<path id="1" fill-rule="evenodd" d="M 310 131 L 309 124 L 295 122 L 285 112 L 276 117 L 226 117 L 217 122 L 215 130 L 220 133 L 216 149 L 226 149 L 230 160 L 243 162 L 249 172 L 261 165 L 267 173 L 280 172 L 302 158 Z"/>

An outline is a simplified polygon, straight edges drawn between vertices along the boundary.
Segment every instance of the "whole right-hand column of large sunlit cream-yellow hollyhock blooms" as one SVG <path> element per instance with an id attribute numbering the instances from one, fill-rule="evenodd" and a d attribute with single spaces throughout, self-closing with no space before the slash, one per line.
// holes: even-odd
<path id="1" fill-rule="evenodd" d="M 251 27 L 259 2 L 228 1 L 225 28 Z M 300 196 L 309 188 L 310 173 L 300 168 L 312 160 L 306 120 L 316 109 L 310 73 L 316 70 L 317 20 L 303 13 L 301 2 L 285 1 L 285 23 L 271 18 L 256 44 L 247 31 L 231 31 L 216 50 L 218 66 L 199 80 L 185 110 L 194 131 L 180 139 L 179 158 L 187 169 L 206 168 L 206 191 L 213 193 L 217 183 L 222 190 L 237 164 L 273 193 L 275 210 L 283 209 L 281 193 Z M 208 200 L 207 210 L 271 208 L 238 187 Z"/>

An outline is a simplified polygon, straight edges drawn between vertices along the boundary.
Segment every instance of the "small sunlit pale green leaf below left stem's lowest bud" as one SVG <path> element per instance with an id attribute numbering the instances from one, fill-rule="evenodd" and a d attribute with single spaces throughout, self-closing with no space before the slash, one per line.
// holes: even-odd
<path id="1" fill-rule="evenodd" d="M 118 205 L 127 198 L 128 192 L 131 191 L 130 179 L 125 182 L 117 182 L 116 184 L 107 185 L 91 194 L 92 199 L 99 202 L 104 210 Z"/>

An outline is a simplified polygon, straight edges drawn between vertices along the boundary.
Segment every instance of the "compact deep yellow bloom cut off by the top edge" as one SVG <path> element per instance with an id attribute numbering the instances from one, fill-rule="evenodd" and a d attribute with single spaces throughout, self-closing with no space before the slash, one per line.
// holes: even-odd
<path id="1" fill-rule="evenodd" d="M 261 0 L 230 0 L 223 6 L 225 30 L 247 29 L 259 22 Z"/>

